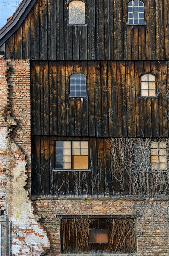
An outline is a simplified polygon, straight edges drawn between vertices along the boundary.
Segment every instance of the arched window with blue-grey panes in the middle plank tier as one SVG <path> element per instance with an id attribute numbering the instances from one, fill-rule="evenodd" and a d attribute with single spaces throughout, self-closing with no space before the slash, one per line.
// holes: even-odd
<path id="1" fill-rule="evenodd" d="M 70 97 L 86 97 L 86 75 L 81 73 L 70 75 Z"/>

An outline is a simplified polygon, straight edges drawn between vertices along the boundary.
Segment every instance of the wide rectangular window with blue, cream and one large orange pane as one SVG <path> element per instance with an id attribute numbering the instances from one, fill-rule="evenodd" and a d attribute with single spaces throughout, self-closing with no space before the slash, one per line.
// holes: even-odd
<path id="1" fill-rule="evenodd" d="M 88 141 L 56 141 L 56 169 L 88 169 Z"/>

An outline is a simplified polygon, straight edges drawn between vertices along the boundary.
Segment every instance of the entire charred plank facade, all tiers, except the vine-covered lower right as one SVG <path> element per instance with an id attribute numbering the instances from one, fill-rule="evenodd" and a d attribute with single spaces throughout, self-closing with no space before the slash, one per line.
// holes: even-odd
<path id="1" fill-rule="evenodd" d="M 69 24 L 69 0 L 27 2 L 0 47 L 31 63 L 32 195 L 118 195 L 110 138 L 169 135 L 169 0 L 142 0 L 143 25 L 128 24 L 129 0 L 83 0 L 82 25 Z M 86 76 L 86 97 L 70 97 L 74 73 Z M 144 74 L 155 97 L 141 95 Z M 55 141 L 88 141 L 88 171 L 56 171 Z"/>

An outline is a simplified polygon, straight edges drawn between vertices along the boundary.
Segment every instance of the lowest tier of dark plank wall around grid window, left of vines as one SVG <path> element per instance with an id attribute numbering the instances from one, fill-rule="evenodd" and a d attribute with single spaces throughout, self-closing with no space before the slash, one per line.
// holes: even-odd
<path id="1" fill-rule="evenodd" d="M 89 146 L 90 171 L 53 171 L 56 140 L 84 138 L 32 136 L 32 195 L 35 196 L 112 196 L 120 186 L 111 175 L 111 144 L 104 138 L 85 138 Z"/>

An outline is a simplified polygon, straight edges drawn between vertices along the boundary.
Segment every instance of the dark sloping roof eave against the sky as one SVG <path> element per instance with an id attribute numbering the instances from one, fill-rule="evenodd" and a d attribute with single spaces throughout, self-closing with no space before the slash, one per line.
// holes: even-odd
<path id="1" fill-rule="evenodd" d="M 12 18 L 0 29 L 0 47 L 20 27 L 37 0 L 23 0 Z"/>

